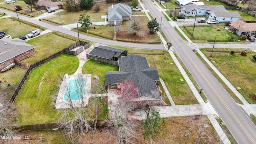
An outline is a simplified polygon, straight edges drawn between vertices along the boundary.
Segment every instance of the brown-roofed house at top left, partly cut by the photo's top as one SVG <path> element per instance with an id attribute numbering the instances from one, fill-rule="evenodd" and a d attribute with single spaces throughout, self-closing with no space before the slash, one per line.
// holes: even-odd
<path id="1" fill-rule="evenodd" d="M 58 10 L 62 8 L 62 2 L 52 2 L 50 0 L 38 0 L 36 7 L 41 10 Z"/>

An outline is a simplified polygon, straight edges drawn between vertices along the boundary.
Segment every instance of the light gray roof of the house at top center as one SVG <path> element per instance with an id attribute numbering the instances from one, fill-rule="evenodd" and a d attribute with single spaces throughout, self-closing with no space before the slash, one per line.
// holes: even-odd
<path id="1" fill-rule="evenodd" d="M 123 20 L 123 16 L 130 16 L 132 8 L 124 4 L 115 4 L 108 7 L 108 21 Z"/>

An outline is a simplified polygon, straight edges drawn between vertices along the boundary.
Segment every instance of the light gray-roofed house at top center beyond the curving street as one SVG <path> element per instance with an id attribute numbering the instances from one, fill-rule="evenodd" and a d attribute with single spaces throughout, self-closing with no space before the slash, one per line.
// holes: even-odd
<path id="1" fill-rule="evenodd" d="M 123 20 L 132 18 L 132 8 L 124 4 L 115 4 L 108 7 L 108 24 L 111 26 L 122 25 Z"/>

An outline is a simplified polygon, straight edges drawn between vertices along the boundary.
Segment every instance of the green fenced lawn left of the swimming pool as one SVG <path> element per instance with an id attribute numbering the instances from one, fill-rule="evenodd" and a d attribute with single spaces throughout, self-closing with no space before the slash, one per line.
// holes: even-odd
<path id="1" fill-rule="evenodd" d="M 72 66 L 71 66 L 72 65 Z M 56 80 L 64 74 L 74 74 L 79 66 L 76 56 L 63 54 L 33 69 L 14 104 L 20 124 L 42 124 L 57 120 L 51 99 Z"/>

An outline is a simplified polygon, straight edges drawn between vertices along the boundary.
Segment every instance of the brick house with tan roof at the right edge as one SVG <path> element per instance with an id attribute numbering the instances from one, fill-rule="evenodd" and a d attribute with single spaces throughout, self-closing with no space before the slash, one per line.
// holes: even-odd
<path id="1" fill-rule="evenodd" d="M 229 24 L 229 29 L 238 36 L 246 34 L 256 34 L 256 23 L 246 23 L 243 20 L 234 20 Z"/>

